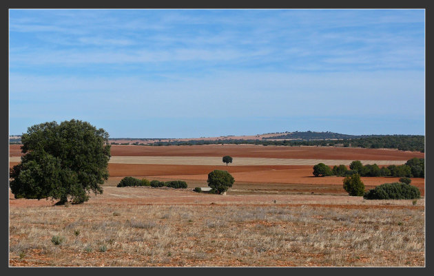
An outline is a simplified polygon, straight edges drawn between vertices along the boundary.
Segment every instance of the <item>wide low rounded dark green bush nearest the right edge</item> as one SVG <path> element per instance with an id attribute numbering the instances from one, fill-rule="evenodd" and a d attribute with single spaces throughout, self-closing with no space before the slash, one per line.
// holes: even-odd
<path id="1" fill-rule="evenodd" d="M 366 200 L 413 200 L 420 198 L 417 187 L 402 182 L 384 183 L 364 193 Z"/>

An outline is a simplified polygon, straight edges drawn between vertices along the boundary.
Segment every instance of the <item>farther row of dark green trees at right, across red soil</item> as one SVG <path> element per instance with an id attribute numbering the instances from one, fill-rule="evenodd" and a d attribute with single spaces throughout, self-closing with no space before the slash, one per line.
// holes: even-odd
<path id="1" fill-rule="evenodd" d="M 340 164 L 330 169 L 324 163 L 319 163 L 313 166 L 313 176 L 352 176 L 358 173 L 360 176 L 393 176 L 393 177 L 407 177 L 407 178 L 424 178 L 424 158 L 412 158 L 407 160 L 406 164 L 390 165 L 388 167 L 378 167 L 378 164 L 363 165 L 359 160 L 351 162 L 350 169 L 347 166 Z"/>

